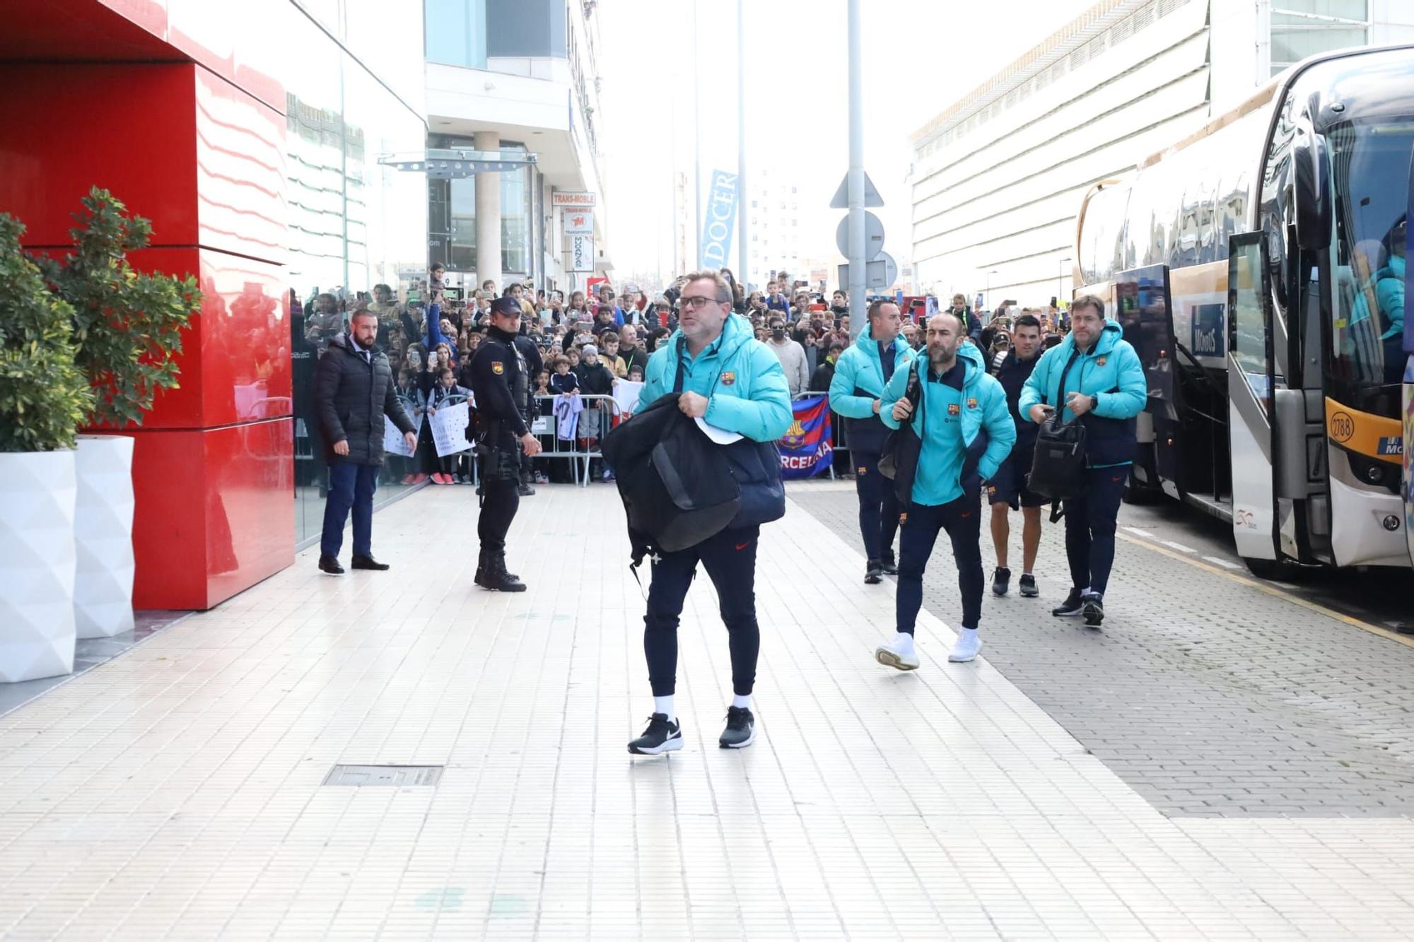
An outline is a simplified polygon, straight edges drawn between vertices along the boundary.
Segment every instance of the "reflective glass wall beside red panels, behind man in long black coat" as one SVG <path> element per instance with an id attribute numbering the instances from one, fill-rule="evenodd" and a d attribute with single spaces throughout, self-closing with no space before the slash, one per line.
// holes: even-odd
<path id="1" fill-rule="evenodd" d="M 407 366 L 407 349 L 423 334 L 427 301 L 427 181 L 379 163 L 382 157 L 419 151 L 427 139 L 420 88 L 400 89 L 370 71 L 396 62 L 399 74 L 419 81 L 420 28 L 383 34 L 362 16 L 365 4 L 325 3 L 324 13 L 345 24 L 354 48 L 332 42 L 307 17 L 291 28 L 303 35 L 305 55 L 288 61 L 286 86 L 286 188 L 290 291 L 290 351 L 294 405 L 296 539 L 318 537 L 327 489 L 324 443 L 314 414 L 314 372 L 329 339 L 351 314 L 369 308 L 379 315 L 379 345 L 395 378 Z M 342 10 L 335 7 L 342 6 Z M 397 18 L 397 17 L 393 17 Z M 396 42 L 396 47 L 393 45 Z M 411 98 L 411 100 L 407 100 Z M 416 392 L 403 388 L 411 414 Z M 403 481 L 419 472 L 421 457 L 390 455 L 375 495 L 378 504 L 396 496 Z"/>

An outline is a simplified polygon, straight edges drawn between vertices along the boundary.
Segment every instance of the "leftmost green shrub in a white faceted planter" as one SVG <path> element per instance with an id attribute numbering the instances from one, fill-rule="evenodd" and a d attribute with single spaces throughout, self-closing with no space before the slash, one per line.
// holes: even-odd
<path id="1" fill-rule="evenodd" d="M 74 311 L 0 214 L 0 682 L 74 670 L 75 430 L 93 395 Z"/>

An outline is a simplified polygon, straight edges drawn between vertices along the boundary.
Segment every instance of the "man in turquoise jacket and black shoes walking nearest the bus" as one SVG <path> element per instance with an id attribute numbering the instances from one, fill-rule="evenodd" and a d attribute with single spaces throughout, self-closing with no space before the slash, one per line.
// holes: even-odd
<path id="1" fill-rule="evenodd" d="M 1103 300 L 1093 294 L 1075 298 L 1070 334 L 1041 356 L 1017 405 L 1025 421 L 1039 424 L 1059 407 L 1068 421 L 1085 423 L 1085 492 L 1065 502 L 1070 594 L 1051 614 L 1083 615 L 1092 628 L 1104 621 L 1114 525 L 1134 464 L 1134 417 L 1148 402 L 1140 355 L 1123 335 L 1118 321 L 1106 320 Z"/>

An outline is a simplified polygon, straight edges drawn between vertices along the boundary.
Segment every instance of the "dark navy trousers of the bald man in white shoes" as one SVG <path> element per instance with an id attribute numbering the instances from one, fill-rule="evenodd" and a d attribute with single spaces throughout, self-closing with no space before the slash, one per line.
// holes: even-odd
<path id="1" fill-rule="evenodd" d="M 929 506 L 912 504 L 899 526 L 898 593 L 894 611 L 898 631 L 913 634 L 918 610 L 923 605 L 923 569 L 933 554 L 937 532 L 947 530 L 957 563 L 957 588 L 963 597 L 963 628 L 981 621 L 981 498 L 967 491 L 956 501 Z"/>

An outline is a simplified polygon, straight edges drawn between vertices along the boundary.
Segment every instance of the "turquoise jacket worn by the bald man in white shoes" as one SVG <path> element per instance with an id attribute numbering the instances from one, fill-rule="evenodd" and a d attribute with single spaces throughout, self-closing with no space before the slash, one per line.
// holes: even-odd
<path id="1" fill-rule="evenodd" d="M 936 382 L 926 354 L 919 352 L 906 369 L 894 373 L 884 390 L 880 417 L 889 429 L 898 429 L 902 423 L 894 419 L 894 403 L 904 397 L 909 376 L 918 371 L 922 389 L 909 424 L 922 448 L 912 481 L 902 479 L 908 474 L 905 463 L 898 465 L 894 485 L 901 501 L 937 506 L 977 494 L 1017 444 L 1007 390 L 987 375 L 981 351 L 963 342 L 957 361 L 963 365 L 962 389 Z"/>

